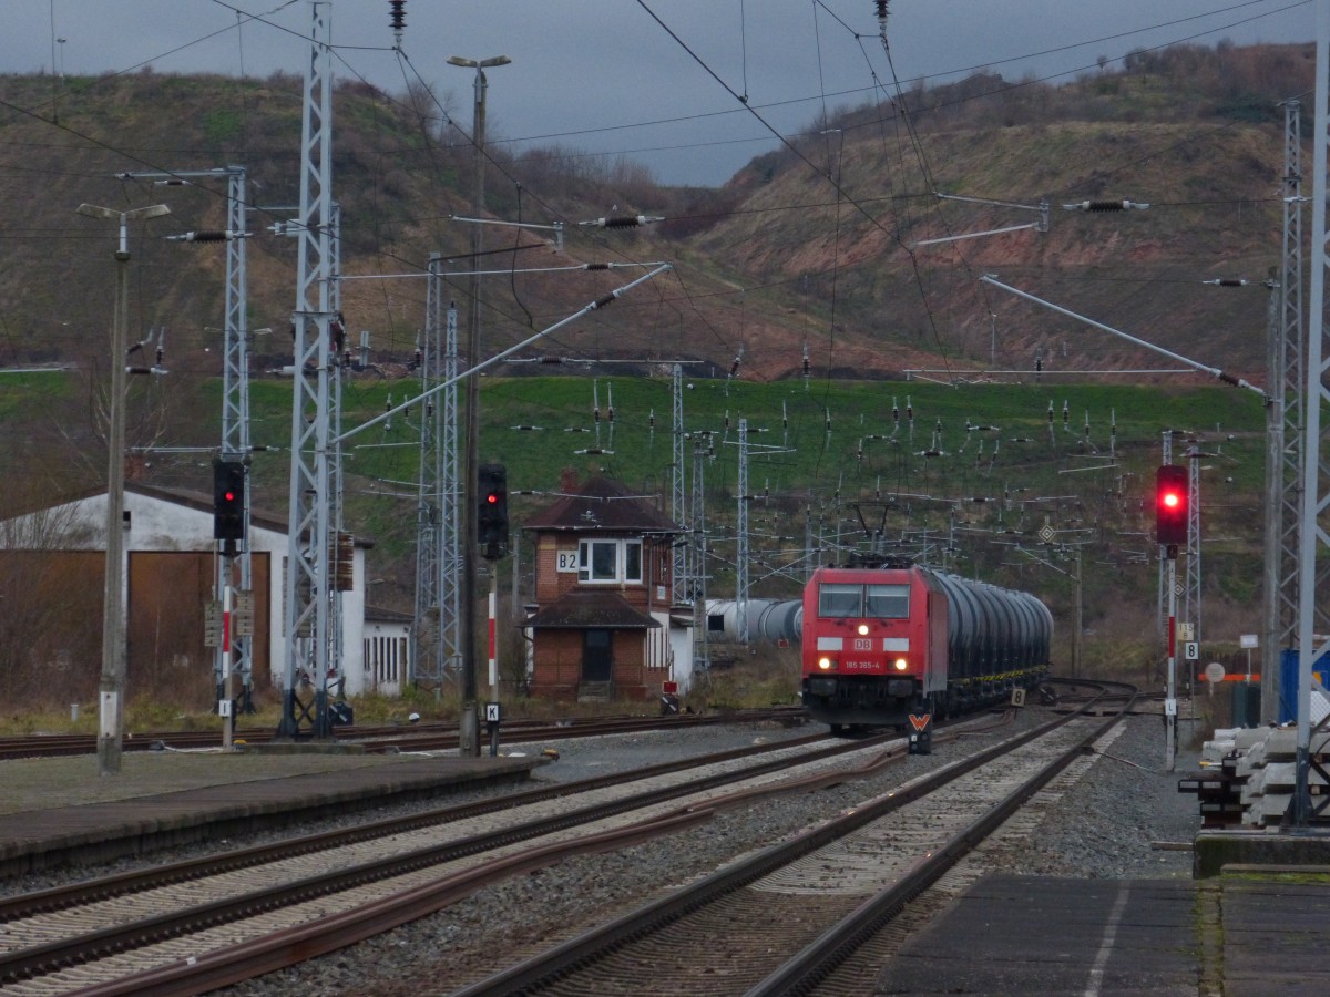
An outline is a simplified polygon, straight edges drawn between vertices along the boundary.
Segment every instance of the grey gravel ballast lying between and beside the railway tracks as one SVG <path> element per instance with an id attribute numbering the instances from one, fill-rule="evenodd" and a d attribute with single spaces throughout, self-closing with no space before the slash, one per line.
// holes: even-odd
<path id="1" fill-rule="evenodd" d="M 758 800 L 674 837 L 557 863 L 481 889 L 415 924 L 227 993 L 447 993 L 612 913 L 633 909 L 665 888 L 708 875 L 735 856 L 767 847 L 1044 719 L 1045 714 L 1027 710 L 1011 726 L 936 744 L 932 755 L 908 758 L 871 780 Z M 1194 759 L 1184 752 L 1177 772 L 1164 771 L 1164 735 L 1157 717 L 1130 718 L 1115 730 L 1116 736 L 1100 742 L 1093 755 L 1077 762 L 1041 798 L 1037 847 L 1028 847 L 1028 841 L 1020 848 L 999 844 L 984 852 L 984 868 L 1088 879 L 1190 877 L 1190 851 L 1160 845 L 1188 844 L 1200 828 L 1196 798 L 1177 792 L 1178 774 L 1189 771 Z M 555 748 L 559 762 L 537 770 L 536 779 L 571 782 L 806 732 L 809 728 L 728 726 L 551 742 L 519 750 Z M 428 981 L 424 989 L 422 981 Z"/>

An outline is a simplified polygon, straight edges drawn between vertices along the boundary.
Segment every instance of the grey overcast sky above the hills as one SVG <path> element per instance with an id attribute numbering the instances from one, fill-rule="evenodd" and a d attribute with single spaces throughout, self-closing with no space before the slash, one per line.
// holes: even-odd
<path id="1" fill-rule="evenodd" d="M 622 153 L 661 182 L 706 185 L 775 148 L 769 126 L 797 132 L 895 81 L 980 68 L 1069 80 L 1101 57 L 1180 41 L 1310 41 L 1317 11 L 1313 0 L 890 0 L 888 60 L 874 0 L 407 0 L 402 57 L 388 0 L 325 7 L 339 78 L 400 93 L 418 77 L 451 93 L 469 130 L 473 70 L 447 57 L 509 56 L 488 72 L 492 140 Z M 307 0 L 0 0 L 0 11 L 7 73 L 267 76 L 309 61 Z"/>

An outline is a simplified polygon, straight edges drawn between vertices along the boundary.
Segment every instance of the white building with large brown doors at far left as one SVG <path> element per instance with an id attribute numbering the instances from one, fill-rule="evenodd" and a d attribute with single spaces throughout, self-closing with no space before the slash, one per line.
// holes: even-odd
<path id="1" fill-rule="evenodd" d="M 11 552 L 41 557 L 65 565 L 82 580 L 96 572 L 105 574 L 104 552 L 106 492 L 78 496 L 68 502 L 0 521 L 0 558 Z M 249 549 L 254 592 L 253 682 L 281 687 L 286 671 L 285 568 L 287 529 L 283 520 L 258 510 L 250 513 Z M 371 546 L 356 541 L 352 560 L 352 586 L 342 593 L 342 669 L 344 693 L 356 695 L 370 687 L 390 691 L 392 683 L 378 673 L 367 682 L 364 641 L 364 552 Z M 210 682 L 214 653 L 205 646 L 203 623 L 207 604 L 214 598 L 215 541 L 213 501 L 201 492 L 156 488 L 134 481 L 125 484 L 125 634 L 126 671 L 133 690 L 134 677 L 164 669 L 197 670 L 201 682 Z M 86 586 L 85 586 L 86 588 Z M 94 608 L 66 614 L 70 646 L 86 649 L 86 634 L 101 631 L 101 589 Z M 44 653 L 61 654 L 61 635 Z M 77 638 L 77 639 L 76 639 Z M 379 666 L 376 665 L 375 669 Z M 400 690 L 400 682 L 392 691 Z"/>

